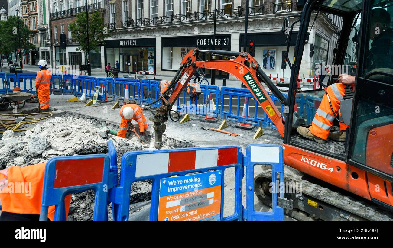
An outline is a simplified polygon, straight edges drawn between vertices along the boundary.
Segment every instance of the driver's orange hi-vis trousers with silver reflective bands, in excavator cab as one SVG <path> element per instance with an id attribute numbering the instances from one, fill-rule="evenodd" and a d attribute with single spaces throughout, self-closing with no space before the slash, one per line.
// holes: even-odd
<path id="1" fill-rule="evenodd" d="M 353 87 L 353 85 L 351 85 L 351 87 Z M 345 93 L 345 84 L 332 84 L 327 87 L 327 93 L 329 94 L 334 113 L 338 116 L 338 119 L 342 121 L 340 103 Z M 330 129 L 333 126 L 334 119 L 333 111 L 325 94 L 322 98 L 321 105 L 315 113 L 314 120 L 312 120 L 312 126 L 310 126 L 309 129 L 313 135 L 326 140 L 329 136 Z M 340 131 L 345 131 L 349 127 L 344 123 L 339 123 Z"/>

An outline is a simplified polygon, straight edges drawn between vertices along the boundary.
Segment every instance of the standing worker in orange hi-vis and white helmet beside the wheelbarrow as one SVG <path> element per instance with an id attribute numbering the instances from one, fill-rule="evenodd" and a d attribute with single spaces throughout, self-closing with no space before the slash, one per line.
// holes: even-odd
<path id="1" fill-rule="evenodd" d="M 50 81 L 51 71 L 48 70 L 48 62 L 42 59 L 38 62 L 40 71 L 37 72 L 35 78 L 35 89 L 37 91 L 38 100 L 40 102 L 40 109 L 46 111 L 49 109 L 49 94 L 50 94 Z"/>

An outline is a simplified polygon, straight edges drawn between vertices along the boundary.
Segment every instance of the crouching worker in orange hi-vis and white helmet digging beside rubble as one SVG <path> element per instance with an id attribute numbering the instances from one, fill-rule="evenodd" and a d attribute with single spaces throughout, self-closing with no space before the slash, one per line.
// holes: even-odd
<path id="1" fill-rule="evenodd" d="M 129 125 L 131 124 L 131 120 L 136 120 L 138 122 L 139 126 L 139 132 L 140 132 L 140 142 L 146 143 L 145 140 L 145 129 L 147 129 L 147 120 L 143 116 L 143 110 L 140 106 L 130 103 L 126 104 L 120 109 L 120 116 L 121 116 L 121 122 L 120 122 L 120 129 L 118 131 L 118 137 L 124 138 L 125 134 L 127 133 L 127 129 L 129 128 Z"/>

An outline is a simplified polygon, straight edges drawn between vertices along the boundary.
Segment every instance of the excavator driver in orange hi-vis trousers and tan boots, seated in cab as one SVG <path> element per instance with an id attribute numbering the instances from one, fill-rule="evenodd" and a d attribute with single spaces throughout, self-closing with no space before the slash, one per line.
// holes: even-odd
<path id="1" fill-rule="evenodd" d="M 313 139 L 321 144 L 325 144 L 328 138 L 336 141 L 345 141 L 345 130 L 349 126 L 339 122 L 339 132 L 331 133 L 330 129 L 333 126 L 333 120 L 336 119 L 335 116 L 342 121 L 340 102 L 345 93 L 345 85 L 350 85 L 353 89 L 355 77 L 347 74 L 341 74 L 338 76 L 338 81 L 340 83 L 332 84 L 326 88 L 327 94 L 325 94 L 322 98 L 321 105 L 316 111 L 314 120 L 312 120 L 312 125 L 309 128 L 298 127 L 296 129 L 301 136 L 306 137 L 307 139 Z M 329 104 L 327 95 L 329 95 L 332 106 Z"/>

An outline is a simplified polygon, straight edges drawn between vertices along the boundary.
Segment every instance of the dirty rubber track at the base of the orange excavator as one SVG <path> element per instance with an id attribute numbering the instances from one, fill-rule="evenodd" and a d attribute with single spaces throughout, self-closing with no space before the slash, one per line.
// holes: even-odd
<path id="1" fill-rule="evenodd" d="M 379 208 L 373 202 L 355 199 L 351 195 L 345 194 L 345 191 L 340 193 L 329 189 L 330 187 L 325 188 L 310 182 L 312 180 L 305 180 L 304 177 L 310 176 L 294 168 L 285 165 L 284 175 L 286 183 L 297 185 L 297 189 L 289 190 L 293 193 L 285 193 L 285 198 L 289 201 L 292 200 L 290 204 L 292 209 L 286 208 L 285 213 L 294 219 L 302 221 L 393 221 L 392 212 Z M 271 181 L 271 170 L 264 170 L 254 177 L 255 194 L 259 201 L 269 206 L 272 205 L 272 198 L 269 193 L 265 192 L 267 192 L 267 185 Z"/>

